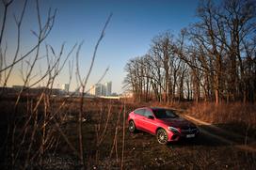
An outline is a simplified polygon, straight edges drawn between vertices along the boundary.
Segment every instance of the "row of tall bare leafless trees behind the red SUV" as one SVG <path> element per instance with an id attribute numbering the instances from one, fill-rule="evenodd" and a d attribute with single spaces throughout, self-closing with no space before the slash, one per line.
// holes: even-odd
<path id="1" fill-rule="evenodd" d="M 200 1 L 197 16 L 128 61 L 124 84 L 136 100 L 256 100 L 256 2 Z"/>

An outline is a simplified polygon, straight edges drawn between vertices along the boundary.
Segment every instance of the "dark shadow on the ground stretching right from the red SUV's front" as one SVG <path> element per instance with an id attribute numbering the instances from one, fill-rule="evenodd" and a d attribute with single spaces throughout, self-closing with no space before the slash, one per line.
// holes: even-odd
<path id="1" fill-rule="evenodd" d="M 239 123 L 230 122 L 225 124 L 215 124 L 219 129 L 209 125 L 200 125 L 200 134 L 193 139 L 182 138 L 177 142 L 170 142 L 168 146 L 204 146 L 221 147 L 232 145 L 249 145 L 256 142 L 256 130 L 247 129 Z M 222 131 L 224 129 L 224 131 Z M 239 130 L 237 130 L 239 129 Z"/>

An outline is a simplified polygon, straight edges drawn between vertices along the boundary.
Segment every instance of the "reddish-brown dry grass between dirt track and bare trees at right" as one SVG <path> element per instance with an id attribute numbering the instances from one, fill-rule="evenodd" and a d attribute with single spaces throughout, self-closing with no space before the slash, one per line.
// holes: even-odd
<path id="1" fill-rule="evenodd" d="M 228 131 L 256 138 L 256 105 L 252 103 L 199 103 L 186 114 L 195 116 L 206 122 Z"/>

